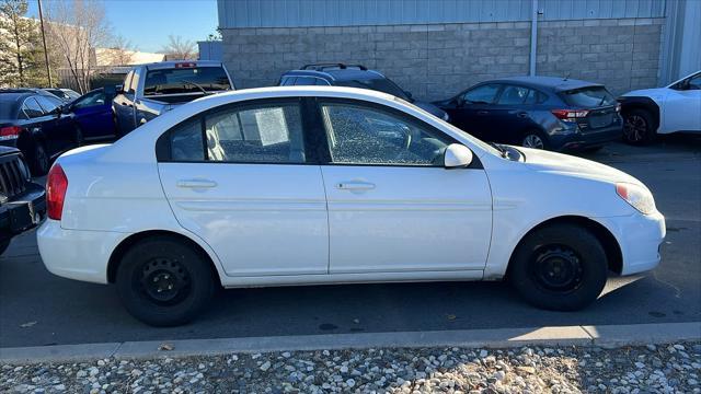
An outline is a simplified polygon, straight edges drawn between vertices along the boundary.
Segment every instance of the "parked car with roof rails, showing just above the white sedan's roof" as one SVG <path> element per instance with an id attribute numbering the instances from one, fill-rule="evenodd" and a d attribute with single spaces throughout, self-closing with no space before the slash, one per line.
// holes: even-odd
<path id="1" fill-rule="evenodd" d="M 434 116 L 448 120 L 448 114 L 445 111 L 430 103 L 415 100 L 411 92 L 403 90 L 391 79 L 360 65 L 306 65 L 299 70 L 285 72 L 277 84 L 280 86 L 322 85 L 370 89 L 405 100 Z"/>

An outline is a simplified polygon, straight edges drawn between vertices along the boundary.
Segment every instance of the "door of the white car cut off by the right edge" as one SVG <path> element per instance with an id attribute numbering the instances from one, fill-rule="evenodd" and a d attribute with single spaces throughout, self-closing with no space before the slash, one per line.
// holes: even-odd
<path id="1" fill-rule="evenodd" d="M 659 131 L 701 131 L 701 73 L 690 78 L 686 89 L 667 91 Z"/>

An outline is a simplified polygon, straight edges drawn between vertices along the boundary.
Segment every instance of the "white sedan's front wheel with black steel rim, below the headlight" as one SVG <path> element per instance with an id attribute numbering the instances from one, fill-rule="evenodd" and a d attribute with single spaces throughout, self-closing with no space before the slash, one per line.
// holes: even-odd
<path id="1" fill-rule="evenodd" d="M 514 253 L 508 279 L 526 301 L 541 309 L 576 311 L 604 290 L 608 263 L 588 230 L 555 224 L 526 236 Z"/>

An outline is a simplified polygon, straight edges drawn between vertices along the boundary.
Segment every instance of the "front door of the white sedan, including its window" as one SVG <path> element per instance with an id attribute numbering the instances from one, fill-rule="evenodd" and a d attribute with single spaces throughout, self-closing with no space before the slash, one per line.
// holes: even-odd
<path id="1" fill-rule="evenodd" d="M 450 137 L 364 102 L 320 99 L 318 113 L 329 148 L 330 274 L 484 268 L 490 185 L 480 165 L 443 166 Z"/>

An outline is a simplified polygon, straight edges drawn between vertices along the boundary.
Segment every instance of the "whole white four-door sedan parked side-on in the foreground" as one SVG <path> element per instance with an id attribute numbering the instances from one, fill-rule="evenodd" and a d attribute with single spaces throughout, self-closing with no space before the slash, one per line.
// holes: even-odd
<path id="1" fill-rule="evenodd" d="M 61 155 L 44 264 L 115 283 L 152 325 L 225 288 L 506 278 L 576 310 L 655 267 L 663 216 L 634 177 L 490 146 L 397 97 L 268 88 L 204 97 Z"/>

